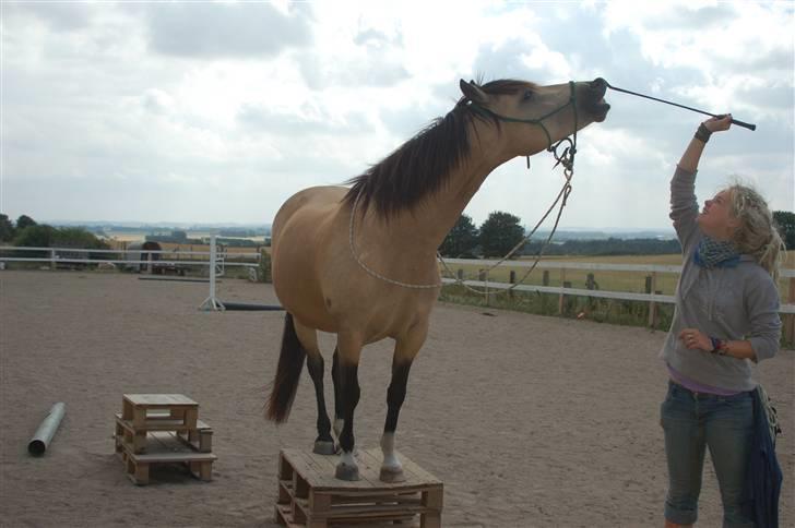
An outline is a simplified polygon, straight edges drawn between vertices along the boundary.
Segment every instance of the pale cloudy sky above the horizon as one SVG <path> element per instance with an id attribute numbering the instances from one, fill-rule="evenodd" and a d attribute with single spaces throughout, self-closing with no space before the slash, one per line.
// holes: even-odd
<path id="1" fill-rule="evenodd" d="M 756 123 L 713 135 L 698 197 L 739 180 L 793 211 L 794 7 L 3 0 L 0 213 L 270 224 L 295 192 L 344 183 L 451 110 L 460 79 L 597 76 Z M 578 136 L 560 227 L 669 229 L 671 176 L 707 117 L 606 98 L 607 120 Z M 563 182 L 553 165 L 506 163 L 465 213 L 534 226 Z"/>

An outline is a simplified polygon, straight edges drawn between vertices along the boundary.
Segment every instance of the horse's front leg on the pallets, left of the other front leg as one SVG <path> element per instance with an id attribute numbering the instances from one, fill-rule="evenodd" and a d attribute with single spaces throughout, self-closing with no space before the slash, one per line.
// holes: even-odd
<path id="1" fill-rule="evenodd" d="M 361 339 L 355 335 L 340 334 L 339 350 L 339 381 L 344 425 L 340 434 L 342 456 L 336 465 L 335 476 L 341 480 L 359 480 L 359 467 L 354 458 L 354 411 L 359 403 L 359 358 L 361 356 Z"/>

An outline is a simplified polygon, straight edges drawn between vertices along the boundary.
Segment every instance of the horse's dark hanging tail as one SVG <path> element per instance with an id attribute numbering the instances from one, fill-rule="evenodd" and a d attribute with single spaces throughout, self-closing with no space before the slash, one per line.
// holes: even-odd
<path id="1" fill-rule="evenodd" d="M 265 407 L 265 418 L 269 420 L 276 423 L 287 421 L 306 358 L 307 351 L 298 340 L 293 314 L 287 312 L 282 334 L 282 352 L 278 355 L 278 367 Z"/>

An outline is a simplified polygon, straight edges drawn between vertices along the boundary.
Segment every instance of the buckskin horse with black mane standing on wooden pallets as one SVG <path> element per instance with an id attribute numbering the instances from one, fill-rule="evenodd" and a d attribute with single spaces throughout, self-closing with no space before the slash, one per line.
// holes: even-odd
<path id="1" fill-rule="evenodd" d="M 550 149 L 571 134 L 576 139 L 578 130 L 604 121 L 609 110 L 602 79 L 549 86 L 461 80 L 459 86 L 463 95 L 452 110 L 348 180 L 351 187 L 299 191 L 273 221 L 273 287 L 286 316 L 265 417 L 276 423 L 287 419 L 306 361 L 318 406 L 313 452 L 337 453 L 317 331 L 336 334 L 331 374 L 341 480 L 359 479 L 354 411 L 361 350 L 387 337 L 395 346 L 380 479 L 405 480 L 395 429 L 441 287 L 437 249 L 486 177 L 514 157 Z"/>

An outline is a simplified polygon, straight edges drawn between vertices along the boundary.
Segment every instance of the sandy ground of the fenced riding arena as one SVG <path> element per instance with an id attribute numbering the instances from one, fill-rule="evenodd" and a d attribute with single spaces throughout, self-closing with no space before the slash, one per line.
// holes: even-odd
<path id="1" fill-rule="evenodd" d="M 283 314 L 200 312 L 206 296 L 206 284 L 134 275 L 0 272 L 1 526 L 275 526 L 278 449 L 315 437 L 311 382 L 288 423 L 266 422 Z M 218 297 L 276 303 L 270 286 L 242 280 L 224 280 Z M 491 313 L 436 309 L 397 428 L 401 453 L 444 482 L 443 526 L 661 526 L 664 334 Z M 332 336 L 321 343 L 333 350 Z M 365 448 L 383 427 L 390 346 L 369 346 L 359 370 Z M 793 350 L 758 372 L 784 418 L 782 526 L 795 526 L 794 372 Z M 214 480 L 158 471 L 133 485 L 111 440 L 124 393 L 199 401 L 215 431 Z M 67 416 L 46 455 L 31 457 L 56 401 Z M 700 525 L 720 526 L 720 509 L 708 458 Z"/>

